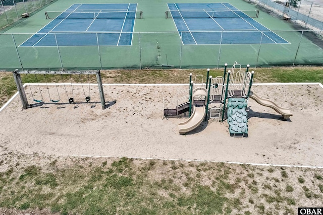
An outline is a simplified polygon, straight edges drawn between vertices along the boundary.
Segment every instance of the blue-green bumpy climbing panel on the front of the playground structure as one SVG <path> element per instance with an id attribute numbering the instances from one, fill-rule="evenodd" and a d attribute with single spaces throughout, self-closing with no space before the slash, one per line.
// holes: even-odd
<path id="1" fill-rule="evenodd" d="M 248 133 L 247 103 L 243 98 L 229 98 L 228 123 L 230 134 Z"/>

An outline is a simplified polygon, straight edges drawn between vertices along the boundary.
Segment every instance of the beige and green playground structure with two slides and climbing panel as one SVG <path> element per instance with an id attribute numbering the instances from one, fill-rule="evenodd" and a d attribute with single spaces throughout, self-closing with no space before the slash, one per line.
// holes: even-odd
<path id="1" fill-rule="evenodd" d="M 177 94 L 175 109 L 164 108 L 164 117 L 189 116 L 188 120 L 178 125 L 180 134 L 194 130 L 202 121 L 210 119 L 224 121 L 226 115 L 230 135 L 247 136 L 246 108 L 249 98 L 260 105 L 274 109 L 282 114 L 285 120 L 293 115 L 288 108 L 280 107 L 275 102 L 261 98 L 251 91 L 254 71 L 251 73 L 248 71 L 249 65 L 245 71 L 237 62 L 232 66 L 232 70 L 227 71 L 227 65 L 226 63 L 223 76 L 216 78 L 209 76 L 209 69 L 207 69 L 205 83 L 202 75 L 195 76 L 192 81 L 192 74 L 190 74 L 189 93 L 185 90 Z M 201 82 L 197 83 L 198 79 Z"/>

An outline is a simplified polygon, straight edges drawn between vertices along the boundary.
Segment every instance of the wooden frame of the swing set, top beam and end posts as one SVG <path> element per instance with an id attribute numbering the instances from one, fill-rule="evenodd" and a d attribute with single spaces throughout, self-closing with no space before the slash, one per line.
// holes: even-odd
<path id="1" fill-rule="evenodd" d="M 104 93 L 103 93 L 103 86 L 102 86 L 102 81 L 101 81 L 101 74 L 100 70 L 62 70 L 62 71 L 37 71 L 37 70 L 19 70 L 16 69 L 13 71 L 15 83 L 17 85 L 17 89 L 19 92 L 19 96 L 22 102 L 23 109 L 27 109 L 29 107 L 27 96 L 25 93 L 25 88 L 22 84 L 22 80 L 20 77 L 20 74 L 41 74 L 41 75 L 93 75 L 95 74 L 96 76 L 96 81 L 97 81 L 97 86 L 99 89 L 99 94 L 100 94 L 100 100 L 101 100 L 101 106 L 102 109 L 105 109 L 105 99 L 104 99 Z M 47 83 L 46 83 L 47 84 Z M 82 86 L 83 87 L 83 86 Z M 84 91 L 84 90 L 83 90 Z M 69 99 L 70 100 L 70 99 Z M 86 98 L 86 102 L 88 102 L 90 99 Z M 34 100 L 35 101 L 35 100 Z M 57 102 L 57 101 L 52 101 L 52 102 Z M 69 101 L 70 102 L 70 101 Z M 71 103 L 71 102 L 70 102 Z"/>

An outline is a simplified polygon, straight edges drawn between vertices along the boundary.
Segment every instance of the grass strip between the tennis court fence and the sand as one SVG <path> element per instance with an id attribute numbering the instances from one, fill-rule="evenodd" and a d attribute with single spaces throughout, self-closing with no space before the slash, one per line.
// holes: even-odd
<path id="1" fill-rule="evenodd" d="M 254 83 L 323 83 L 322 67 L 278 67 L 250 68 L 255 70 Z M 106 70 L 101 71 L 102 83 L 183 84 L 189 82 L 189 74 L 206 76 L 206 69 L 173 70 Z M 210 76 L 223 76 L 223 69 L 210 69 Z M 306 78 L 304 78 L 306 77 Z M 23 83 L 96 83 L 94 75 L 21 75 Z M 4 105 L 17 91 L 12 73 L 0 73 L 0 106 Z M 271 170 L 270 170 L 271 171 Z"/>

